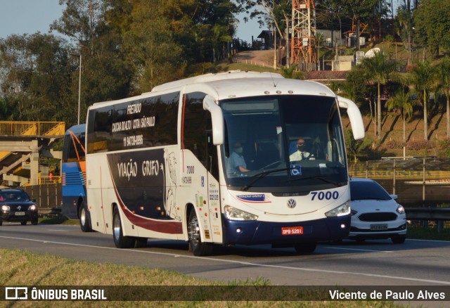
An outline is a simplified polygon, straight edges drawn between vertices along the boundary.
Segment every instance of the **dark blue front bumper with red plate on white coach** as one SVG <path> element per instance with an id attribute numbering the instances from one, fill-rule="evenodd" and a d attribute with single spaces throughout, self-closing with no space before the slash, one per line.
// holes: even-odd
<path id="1" fill-rule="evenodd" d="M 231 221 L 224 217 L 226 245 L 294 245 L 341 240 L 349 235 L 351 216 L 326 217 L 308 222 Z M 292 230 L 292 231 L 291 231 Z"/>

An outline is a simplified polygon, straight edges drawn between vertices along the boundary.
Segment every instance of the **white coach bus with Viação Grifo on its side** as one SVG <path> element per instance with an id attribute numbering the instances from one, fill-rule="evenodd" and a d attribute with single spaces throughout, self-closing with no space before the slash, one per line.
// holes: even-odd
<path id="1" fill-rule="evenodd" d="M 112 234 L 117 248 L 186 240 L 193 255 L 214 244 L 306 253 L 344 238 L 350 193 L 340 108 L 354 138 L 364 138 L 352 101 L 266 72 L 202 75 L 95 103 L 86 122 L 92 229 Z M 292 159 L 297 143 L 304 160 Z"/>

